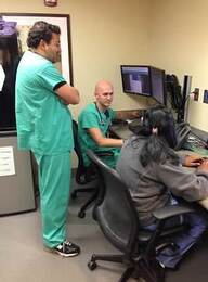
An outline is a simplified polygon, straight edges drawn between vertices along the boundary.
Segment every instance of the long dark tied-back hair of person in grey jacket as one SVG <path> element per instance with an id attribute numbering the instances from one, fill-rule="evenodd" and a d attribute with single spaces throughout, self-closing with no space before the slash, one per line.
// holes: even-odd
<path id="1" fill-rule="evenodd" d="M 158 132 L 153 133 L 153 128 L 157 128 Z M 152 161 L 165 163 L 170 159 L 172 164 L 179 164 L 179 156 L 173 151 L 177 145 L 174 119 L 168 108 L 157 105 L 146 110 L 140 134 L 148 136 L 140 155 L 144 167 Z"/>

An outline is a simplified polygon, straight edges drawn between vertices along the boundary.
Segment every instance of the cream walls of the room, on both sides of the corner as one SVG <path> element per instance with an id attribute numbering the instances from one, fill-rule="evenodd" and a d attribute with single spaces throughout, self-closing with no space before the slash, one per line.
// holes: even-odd
<path id="1" fill-rule="evenodd" d="M 0 0 L 2 12 L 64 13 L 70 15 L 74 82 L 81 103 L 74 116 L 93 99 L 101 78 L 115 86 L 115 108 L 146 104 L 122 93 L 120 64 L 153 64 L 183 76 L 200 88 L 199 102 L 190 103 L 190 123 L 208 130 L 203 91 L 208 73 L 208 23 L 206 0 L 58 0 L 47 8 L 43 0 Z M 17 3 L 18 2 L 18 3 Z M 32 3 L 32 4 L 31 4 Z"/>

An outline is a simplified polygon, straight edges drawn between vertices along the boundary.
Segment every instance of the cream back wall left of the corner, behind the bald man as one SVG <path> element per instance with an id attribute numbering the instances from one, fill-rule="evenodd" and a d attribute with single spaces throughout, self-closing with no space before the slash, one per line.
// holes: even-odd
<path id="1" fill-rule="evenodd" d="M 1 0 L 1 11 L 70 15 L 74 85 L 81 94 L 81 103 L 72 106 L 77 117 L 86 103 L 93 100 L 94 85 L 101 78 L 115 86 L 115 108 L 144 106 L 146 99 L 122 93 L 119 66 L 148 62 L 150 2 L 58 0 L 57 7 L 47 8 L 43 0 Z"/>

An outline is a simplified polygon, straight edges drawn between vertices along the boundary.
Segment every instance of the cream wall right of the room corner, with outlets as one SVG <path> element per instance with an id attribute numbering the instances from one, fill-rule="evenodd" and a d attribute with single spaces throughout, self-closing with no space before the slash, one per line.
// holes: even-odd
<path id="1" fill-rule="evenodd" d="M 192 75 L 192 90 L 200 89 L 199 101 L 190 101 L 188 121 L 208 131 L 208 105 L 203 103 L 208 88 L 208 2 L 206 0 L 153 0 L 152 62 L 176 74 L 181 82 Z"/>

